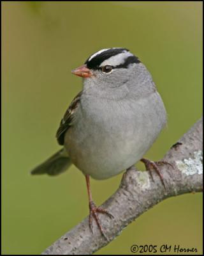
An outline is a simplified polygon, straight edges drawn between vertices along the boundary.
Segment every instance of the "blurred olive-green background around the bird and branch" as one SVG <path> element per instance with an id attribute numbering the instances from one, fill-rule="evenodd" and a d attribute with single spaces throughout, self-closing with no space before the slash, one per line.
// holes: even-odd
<path id="1" fill-rule="evenodd" d="M 106 47 L 134 52 L 168 111 L 168 128 L 146 155 L 161 159 L 201 116 L 202 2 L 4 1 L 2 7 L 2 253 L 40 254 L 88 214 L 85 179 L 75 166 L 55 178 L 29 174 L 59 149 L 55 131 L 82 88 L 71 69 Z M 91 180 L 95 202 L 112 195 L 120 179 Z M 201 194 L 170 198 L 98 253 L 131 254 L 132 244 L 180 244 L 202 253 L 201 215 Z"/>

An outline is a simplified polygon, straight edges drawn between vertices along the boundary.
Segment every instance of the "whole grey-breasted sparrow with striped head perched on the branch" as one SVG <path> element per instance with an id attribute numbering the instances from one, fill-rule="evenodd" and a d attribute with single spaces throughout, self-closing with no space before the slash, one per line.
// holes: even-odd
<path id="1" fill-rule="evenodd" d="M 109 179 L 142 161 L 146 170 L 156 170 L 166 188 L 159 171 L 166 162 L 143 158 L 166 125 L 166 109 L 150 72 L 126 48 L 101 49 L 71 72 L 82 77 L 83 88 L 57 130 L 62 148 L 31 174 L 55 176 L 77 166 L 87 184 L 89 226 L 92 230 L 94 219 L 105 236 L 99 213 L 113 216 L 94 204 L 90 177 Z"/>

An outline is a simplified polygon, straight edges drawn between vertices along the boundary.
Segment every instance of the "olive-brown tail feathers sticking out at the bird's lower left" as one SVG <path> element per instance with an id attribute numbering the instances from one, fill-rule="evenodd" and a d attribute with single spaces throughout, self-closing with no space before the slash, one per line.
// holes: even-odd
<path id="1" fill-rule="evenodd" d="M 48 158 L 45 162 L 38 165 L 31 171 L 31 174 L 45 174 L 58 175 L 66 171 L 71 165 L 71 159 L 68 156 L 65 148 L 57 151 L 53 156 Z"/>

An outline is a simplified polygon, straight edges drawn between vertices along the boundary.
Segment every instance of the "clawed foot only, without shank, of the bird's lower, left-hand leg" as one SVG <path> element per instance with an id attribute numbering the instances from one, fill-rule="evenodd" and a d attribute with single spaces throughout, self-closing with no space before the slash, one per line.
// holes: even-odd
<path id="1" fill-rule="evenodd" d="M 113 218 L 113 215 L 109 211 L 107 211 L 105 209 L 96 207 L 96 205 L 94 204 L 93 201 L 89 202 L 89 210 L 90 210 L 90 214 L 89 214 L 89 227 L 90 227 L 91 231 L 93 232 L 93 229 L 92 229 L 92 218 L 94 218 L 94 220 L 96 221 L 96 224 L 98 225 L 99 230 L 101 231 L 101 234 L 108 241 L 108 237 L 105 236 L 105 232 L 104 232 L 103 227 L 101 226 L 101 223 L 99 221 L 98 212 L 106 214 L 110 218 Z"/>

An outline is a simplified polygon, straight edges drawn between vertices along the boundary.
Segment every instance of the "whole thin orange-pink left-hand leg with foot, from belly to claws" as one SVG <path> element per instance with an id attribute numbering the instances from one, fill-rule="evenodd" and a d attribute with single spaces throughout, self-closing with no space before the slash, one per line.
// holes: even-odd
<path id="1" fill-rule="evenodd" d="M 85 179 L 86 179 L 86 182 L 87 182 L 87 191 L 88 191 L 88 195 L 89 195 L 89 211 L 90 211 L 90 213 L 89 213 L 89 227 L 90 227 L 91 231 L 93 232 L 93 230 L 92 230 L 92 218 L 94 218 L 94 220 L 96 220 L 96 224 L 99 227 L 99 230 L 101 231 L 101 234 L 107 239 L 107 237 L 105 236 L 105 233 L 103 231 L 103 227 L 101 226 L 101 223 L 99 221 L 98 212 L 101 212 L 103 214 L 107 214 L 110 218 L 113 218 L 113 215 L 110 214 L 110 212 L 106 211 L 105 209 L 101 209 L 99 207 L 96 207 L 96 205 L 94 204 L 94 202 L 92 200 L 89 175 L 85 175 Z"/>

